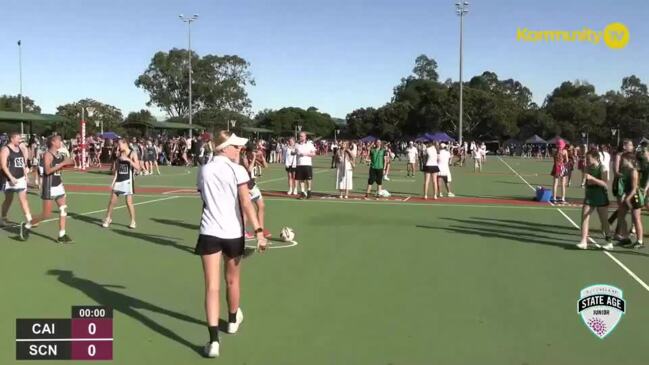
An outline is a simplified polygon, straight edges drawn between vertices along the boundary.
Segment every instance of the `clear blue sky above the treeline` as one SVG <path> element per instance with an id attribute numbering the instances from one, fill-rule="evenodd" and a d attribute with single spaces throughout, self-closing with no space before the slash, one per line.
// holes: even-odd
<path id="1" fill-rule="evenodd" d="M 134 81 L 157 51 L 187 47 L 180 13 L 199 14 L 192 48 L 237 54 L 251 63 L 253 112 L 315 106 L 344 118 L 380 107 L 426 54 L 440 80 L 458 79 L 459 17 L 447 0 L 0 0 L 0 94 L 23 91 L 43 112 L 82 98 L 124 115 L 150 109 Z M 649 82 L 649 2 L 645 0 L 473 0 L 464 19 L 464 79 L 484 71 L 514 78 L 542 103 L 563 81 L 598 93 L 635 74 Z M 517 28 L 602 30 L 624 23 L 626 48 L 524 43 Z"/>

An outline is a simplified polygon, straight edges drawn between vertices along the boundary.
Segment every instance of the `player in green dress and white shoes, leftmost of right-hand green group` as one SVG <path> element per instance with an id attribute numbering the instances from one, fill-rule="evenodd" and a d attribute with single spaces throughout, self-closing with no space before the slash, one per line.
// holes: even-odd
<path id="1" fill-rule="evenodd" d="M 606 244 L 603 248 L 605 250 L 612 250 L 613 242 L 607 219 L 609 205 L 608 183 L 605 179 L 604 166 L 602 166 L 599 159 L 599 153 L 597 151 L 588 152 L 586 155 L 586 164 L 584 171 L 586 196 L 584 197 L 584 206 L 581 210 L 581 242 L 577 244 L 577 247 L 582 250 L 588 249 L 590 215 L 593 211 L 597 210 L 599 221 L 602 223 L 602 232 L 606 239 Z"/>

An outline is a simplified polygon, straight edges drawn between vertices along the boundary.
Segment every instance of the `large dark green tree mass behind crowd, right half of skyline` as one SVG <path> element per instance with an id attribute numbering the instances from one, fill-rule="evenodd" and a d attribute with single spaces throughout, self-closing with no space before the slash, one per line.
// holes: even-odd
<path id="1" fill-rule="evenodd" d="M 463 84 L 463 135 L 468 139 L 521 139 L 534 134 L 562 135 L 580 140 L 612 141 L 612 128 L 624 137 L 649 134 L 647 86 L 631 75 L 619 91 L 598 95 L 587 82 L 566 81 L 549 94 L 542 106 L 522 82 L 500 79 L 485 71 Z M 360 108 L 347 115 L 346 132 L 352 137 L 372 134 L 386 139 L 413 138 L 426 132 L 457 135 L 459 83 L 438 81 L 437 62 L 421 55 L 412 74 L 401 79 L 390 102 Z"/>

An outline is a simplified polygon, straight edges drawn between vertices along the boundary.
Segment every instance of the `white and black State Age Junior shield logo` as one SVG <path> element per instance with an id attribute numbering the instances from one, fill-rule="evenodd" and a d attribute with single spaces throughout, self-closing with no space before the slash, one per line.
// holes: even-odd
<path id="1" fill-rule="evenodd" d="M 577 313 L 586 327 L 600 339 L 613 332 L 625 312 L 626 303 L 621 289 L 597 284 L 581 290 Z"/>

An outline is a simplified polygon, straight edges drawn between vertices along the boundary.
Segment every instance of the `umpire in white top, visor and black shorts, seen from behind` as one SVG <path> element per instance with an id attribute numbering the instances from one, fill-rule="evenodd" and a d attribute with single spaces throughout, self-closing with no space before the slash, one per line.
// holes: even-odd
<path id="1" fill-rule="evenodd" d="M 201 256 L 205 274 L 205 312 L 210 341 L 205 356 L 219 355 L 219 285 L 221 256 L 225 264 L 228 302 L 228 333 L 236 333 L 243 321 L 239 307 L 240 263 L 245 249 L 243 214 L 254 227 L 257 249 L 266 249 L 264 227 L 259 225 L 250 201 L 246 169 L 239 165 L 241 147 L 248 142 L 221 131 L 214 139 L 215 157 L 198 173 L 198 191 L 203 200 L 201 228 L 195 253 Z"/>

